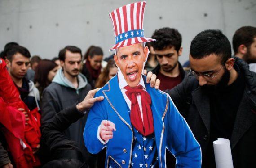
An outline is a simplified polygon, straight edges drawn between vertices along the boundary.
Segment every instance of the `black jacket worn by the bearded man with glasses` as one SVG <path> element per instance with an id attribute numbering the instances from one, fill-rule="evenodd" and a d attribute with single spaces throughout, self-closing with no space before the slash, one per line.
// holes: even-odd
<path id="1" fill-rule="evenodd" d="M 249 71 L 242 59 L 235 58 L 235 64 L 245 74 L 245 89 L 234 121 L 230 146 L 234 168 L 248 168 L 256 165 L 256 73 Z M 181 84 L 167 92 L 199 142 L 204 159 L 208 144 L 212 143 L 209 140 L 209 97 L 192 75 L 187 75 Z"/>

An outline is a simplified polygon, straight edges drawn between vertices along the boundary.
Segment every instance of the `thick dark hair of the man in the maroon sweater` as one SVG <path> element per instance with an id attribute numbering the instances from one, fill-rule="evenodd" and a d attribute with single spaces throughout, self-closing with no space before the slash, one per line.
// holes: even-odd
<path id="1" fill-rule="evenodd" d="M 152 38 L 156 39 L 155 42 L 152 42 L 154 50 L 163 50 L 167 47 L 174 46 L 177 52 L 181 48 L 181 34 L 177 29 L 164 27 L 154 31 Z"/>

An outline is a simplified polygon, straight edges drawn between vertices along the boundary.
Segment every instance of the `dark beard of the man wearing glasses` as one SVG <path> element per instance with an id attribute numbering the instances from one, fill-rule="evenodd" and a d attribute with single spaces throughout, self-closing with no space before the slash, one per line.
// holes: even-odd
<path id="1" fill-rule="evenodd" d="M 225 72 L 221 77 L 221 80 L 218 82 L 218 84 L 205 84 L 203 86 L 200 86 L 205 92 L 208 93 L 216 93 L 216 92 L 222 92 L 227 88 L 228 83 L 230 81 L 230 71 L 228 71 L 226 68 L 224 69 Z"/>

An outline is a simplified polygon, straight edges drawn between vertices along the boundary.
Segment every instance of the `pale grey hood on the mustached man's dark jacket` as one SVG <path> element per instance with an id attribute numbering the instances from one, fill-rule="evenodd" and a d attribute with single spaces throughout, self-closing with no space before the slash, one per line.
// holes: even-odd
<path id="1" fill-rule="evenodd" d="M 54 76 L 52 82 L 55 82 L 65 87 L 74 88 L 76 90 L 79 90 L 80 88 L 84 88 L 88 84 L 87 79 L 83 74 L 79 73 L 77 78 L 78 78 L 78 88 L 75 88 L 73 84 L 64 76 L 63 70 L 59 69 L 57 71 L 56 76 Z"/>

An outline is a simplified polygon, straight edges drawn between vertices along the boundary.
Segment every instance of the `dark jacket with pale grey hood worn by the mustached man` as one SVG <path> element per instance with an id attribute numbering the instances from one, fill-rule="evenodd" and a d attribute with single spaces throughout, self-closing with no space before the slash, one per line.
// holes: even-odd
<path id="1" fill-rule="evenodd" d="M 42 116 L 41 126 L 49 122 L 56 113 L 62 109 L 70 107 L 84 100 L 84 97 L 92 89 L 84 75 L 78 76 L 79 86 L 75 88 L 69 80 L 64 76 L 63 70 L 60 69 L 53 78 L 52 83 L 44 89 L 42 99 Z M 77 122 L 72 123 L 63 133 L 67 138 L 78 143 L 81 151 L 83 151 L 84 161 L 87 160 L 87 150 L 84 145 L 83 131 L 87 115 L 80 118 Z M 43 135 L 44 136 L 44 135 Z"/>

